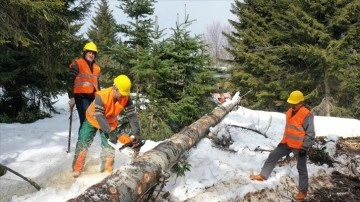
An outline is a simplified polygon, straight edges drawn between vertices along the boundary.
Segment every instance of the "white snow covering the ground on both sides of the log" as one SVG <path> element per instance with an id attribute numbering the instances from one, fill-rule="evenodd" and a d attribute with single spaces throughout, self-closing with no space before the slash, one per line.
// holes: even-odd
<path id="1" fill-rule="evenodd" d="M 0 123 L 0 163 L 19 172 L 40 185 L 36 190 L 29 183 L 7 172 L 0 177 L 1 202 L 63 202 L 80 195 L 108 174 L 100 173 L 100 138 L 97 134 L 88 152 L 85 170 L 74 179 L 71 164 L 79 127 L 74 113 L 71 152 L 66 153 L 69 134 L 69 110 L 67 95 L 61 95 L 54 107 L 60 112 L 51 118 L 29 124 Z M 231 103 L 227 100 L 224 105 Z M 225 202 L 242 200 L 248 193 L 266 188 L 285 191 L 276 194 L 280 201 L 290 201 L 296 192 L 298 174 L 296 163 L 275 167 L 270 178 L 264 182 L 251 181 L 250 174 L 260 172 L 268 152 L 254 151 L 256 148 L 272 150 L 280 142 L 285 124 L 285 114 L 251 110 L 238 106 L 227 114 L 216 126 L 210 128 L 207 137 L 186 152 L 186 161 L 191 165 L 185 176 L 171 175 L 164 187 L 172 201 Z M 251 129 L 251 130 L 249 130 Z M 261 132 L 264 135 L 255 133 Z M 326 151 L 339 162 L 350 162 L 346 156 L 334 156 L 335 143 L 339 137 L 360 136 L 360 120 L 315 116 L 317 136 L 326 137 Z M 231 137 L 228 151 L 215 146 L 212 139 L 225 140 Z M 160 142 L 146 141 L 140 155 Z M 131 150 L 116 151 L 115 170 L 131 163 Z M 310 192 L 312 177 L 344 171 L 343 167 L 308 163 Z M 360 168 L 358 167 L 358 172 Z M 345 172 L 345 171 L 344 171 Z M 286 180 L 284 180 L 286 179 Z M 289 187 L 293 187 L 289 189 Z M 290 191 L 289 191 L 290 190 Z M 271 193 L 270 193 L 271 194 Z"/>

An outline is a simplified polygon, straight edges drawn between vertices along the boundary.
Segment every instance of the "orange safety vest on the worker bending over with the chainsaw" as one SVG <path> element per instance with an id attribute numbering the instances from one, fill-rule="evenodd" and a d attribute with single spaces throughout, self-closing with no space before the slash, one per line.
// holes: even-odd
<path id="1" fill-rule="evenodd" d="M 118 116 L 120 112 L 125 108 L 129 100 L 128 96 L 121 97 L 119 101 L 114 101 L 112 88 L 109 87 L 104 90 L 98 91 L 95 94 L 100 96 L 104 105 L 104 115 L 109 123 L 110 129 L 114 130 L 118 125 Z M 97 129 L 100 129 L 99 122 L 95 117 L 95 100 L 91 102 L 90 106 L 86 110 L 86 119 L 89 123 Z"/>

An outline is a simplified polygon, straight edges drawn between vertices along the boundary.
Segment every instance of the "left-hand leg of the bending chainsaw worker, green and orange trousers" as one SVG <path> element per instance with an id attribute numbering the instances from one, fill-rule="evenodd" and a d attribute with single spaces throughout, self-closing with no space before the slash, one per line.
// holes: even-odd
<path id="1" fill-rule="evenodd" d="M 75 156 L 72 164 L 74 177 L 79 176 L 84 168 L 86 153 L 94 140 L 96 131 L 97 129 L 90 125 L 88 121 L 84 121 L 79 132 L 78 141 L 76 143 Z"/>

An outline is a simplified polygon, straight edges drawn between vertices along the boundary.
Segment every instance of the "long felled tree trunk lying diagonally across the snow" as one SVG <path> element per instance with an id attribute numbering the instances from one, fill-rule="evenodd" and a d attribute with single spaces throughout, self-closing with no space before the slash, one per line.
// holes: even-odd
<path id="1" fill-rule="evenodd" d="M 163 174 L 177 163 L 184 152 L 205 137 L 210 127 L 218 124 L 239 102 L 240 95 L 236 93 L 231 102 L 216 107 L 211 114 L 204 115 L 136 158 L 131 165 L 119 168 L 69 201 L 140 201 L 148 190 L 157 185 Z"/>

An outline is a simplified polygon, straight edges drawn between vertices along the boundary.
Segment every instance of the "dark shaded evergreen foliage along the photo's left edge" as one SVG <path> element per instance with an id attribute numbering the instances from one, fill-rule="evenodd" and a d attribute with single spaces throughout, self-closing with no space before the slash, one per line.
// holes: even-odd
<path id="1" fill-rule="evenodd" d="M 1 117 L 31 122 L 54 111 L 51 99 L 64 90 L 64 61 L 91 0 L 1 0 Z M 40 117 L 34 114 L 39 114 Z"/>

